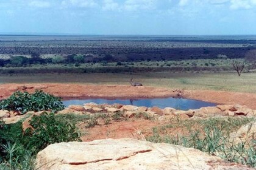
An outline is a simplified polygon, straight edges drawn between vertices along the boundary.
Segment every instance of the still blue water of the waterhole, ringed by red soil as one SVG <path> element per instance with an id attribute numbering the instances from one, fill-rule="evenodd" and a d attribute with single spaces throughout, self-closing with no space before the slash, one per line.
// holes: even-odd
<path id="1" fill-rule="evenodd" d="M 201 107 L 216 106 L 215 103 L 208 103 L 199 100 L 191 100 L 185 98 L 147 98 L 147 99 L 83 99 L 83 100 L 64 100 L 63 103 L 66 107 L 71 104 L 83 105 L 84 103 L 97 103 L 97 104 L 125 104 L 134 106 L 157 106 L 160 108 L 173 107 L 180 110 L 199 109 Z"/>

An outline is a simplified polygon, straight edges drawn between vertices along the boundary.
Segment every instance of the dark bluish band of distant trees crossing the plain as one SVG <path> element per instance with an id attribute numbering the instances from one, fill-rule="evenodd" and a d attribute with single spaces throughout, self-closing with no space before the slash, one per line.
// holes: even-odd
<path id="1" fill-rule="evenodd" d="M 105 55 L 112 55 L 115 61 L 163 61 L 163 60 L 190 60 L 190 59 L 214 59 L 219 54 L 228 58 L 244 58 L 247 52 L 255 47 L 182 47 L 182 48 L 157 48 L 157 47 L 0 47 L 0 54 L 30 55 L 31 53 L 70 55 L 91 54 L 88 60 L 98 61 Z"/>

